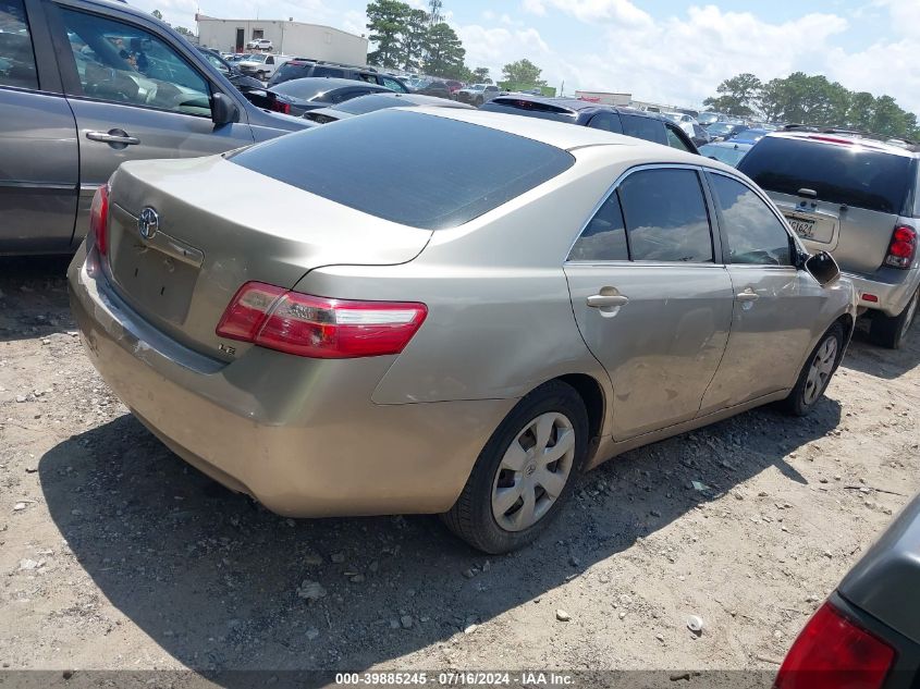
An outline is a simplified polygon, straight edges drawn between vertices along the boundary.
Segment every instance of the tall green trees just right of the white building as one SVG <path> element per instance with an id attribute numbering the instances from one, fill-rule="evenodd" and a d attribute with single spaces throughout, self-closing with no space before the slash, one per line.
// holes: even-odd
<path id="1" fill-rule="evenodd" d="M 400 0 L 376 0 L 367 5 L 368 39 L 375 50 L 370 64 L 395 70 L 419 71 L 446 79 L 491 84 L 489 69 L 466 65 L 466 49 L 456 32 L 441 19 L 440 2 L 429 3 L 431 12 Z M 541 70 L 527 59 L 502 69 L 505 82 L 516 87 L 544 86 Z"/>

